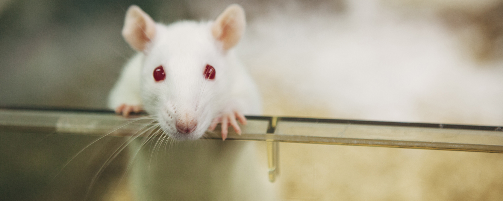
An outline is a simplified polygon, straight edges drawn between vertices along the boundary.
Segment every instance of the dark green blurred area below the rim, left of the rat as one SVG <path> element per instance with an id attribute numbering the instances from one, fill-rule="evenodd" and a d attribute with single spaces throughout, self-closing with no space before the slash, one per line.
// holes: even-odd
<path id="1" fill-rule="evenodd" d="M 126 152 L 121 153 L 102 169 L 123 139 L 105 137 L 85 148 L 96 138 L 1 132 L 0 197 L 2 200 L 103 200 L 107 192 L 117 188 L 127 157 Z M 80 150 L 83 151 L 77 155 Z M 93 182 L 97 173 L 100 176 Z"/>

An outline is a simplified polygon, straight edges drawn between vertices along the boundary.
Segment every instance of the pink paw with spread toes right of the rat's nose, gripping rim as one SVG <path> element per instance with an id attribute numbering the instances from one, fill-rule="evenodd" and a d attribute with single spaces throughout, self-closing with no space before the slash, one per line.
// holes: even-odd
<path id="1" fill-rule="evenodd" d="M 241 128 L 239 128 L 239 125 L 236 122 L 239 121 L 242 125 L 246 125 L 246 118 L 244 115 L 242 115 L 240 112 L 234 111 L 232 113 L 225 113 L 221 117 L 217 117 L 213 119 L 213 121 L 210 124 L 210 127 L 208 130 L 213 131 L 217 127 L 218 123 L 222 124 L 222 140 L 225 140 L 227 138 L 227 129 L 229 127 L 229 124 L 234 128 L 234 131 L 238 134 L 241 135 Z"/>

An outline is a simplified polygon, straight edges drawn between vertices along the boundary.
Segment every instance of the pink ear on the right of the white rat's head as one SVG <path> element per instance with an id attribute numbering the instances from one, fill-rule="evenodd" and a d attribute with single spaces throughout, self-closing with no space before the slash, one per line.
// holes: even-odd
<path id="1" fill-rule="evenodd" d="M 233 4 L 228 6 L 213 23 L 211 33 L 220 41 L 224 50 L 234 47 L 244 33 L 246 19 L 241 6 Z"/>

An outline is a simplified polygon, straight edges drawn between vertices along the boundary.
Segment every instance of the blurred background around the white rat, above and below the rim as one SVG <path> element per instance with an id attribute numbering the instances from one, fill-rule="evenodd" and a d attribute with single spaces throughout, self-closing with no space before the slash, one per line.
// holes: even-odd
<path id="1" fill-rule="evenodd" d="M 0 0 L 0 106 L 104 109 L 134 51 L 125 10 L 155 21 L 246 12 L 236 48 L 265 115 L 503 125 L 503 1 Z M 0 197 L 75 200 L 114 139 L 2 134 Z M 108 155 L 107 155 L 108 154 Z M 281 145 L 284 200 L 501 200 L 503 156 L 492 153 Z M 89 200 L 130 200 L 125 155 Z M 51 182 L 49 182 L 51 181 Z"/>

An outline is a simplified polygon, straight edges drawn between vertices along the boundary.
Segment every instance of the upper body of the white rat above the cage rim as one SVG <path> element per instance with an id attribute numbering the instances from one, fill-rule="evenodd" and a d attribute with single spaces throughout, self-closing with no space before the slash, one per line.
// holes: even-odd
<path id="1" fill-rule="evenodd" d="M 224 139 L 227 123 L 240 133 L 236 117 L 245 123 L 242 114 L 262 112 L 257 87 L 231 49 L 245 23 L 237 5 L 215 22 L 170 26 L 154 23 L 131 6 L 122 35 L 139 53 L 124 67 L 110 93 L 109 108 L 125 116 L 144 108 L 177 140 L 199 139 L 210 124 L 214 129 L 220 122 Z"/>

